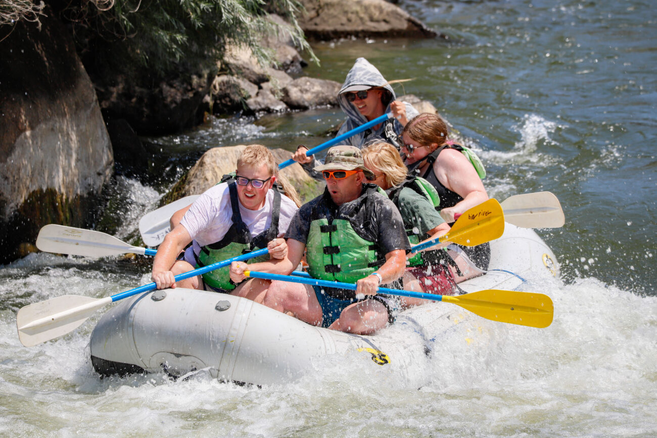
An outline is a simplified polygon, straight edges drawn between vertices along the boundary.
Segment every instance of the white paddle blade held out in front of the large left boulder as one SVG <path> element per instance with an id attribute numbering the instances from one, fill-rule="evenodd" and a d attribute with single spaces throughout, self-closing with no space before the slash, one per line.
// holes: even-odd
<path id="1" fill-rule="evenodd" d="M 129 252 L 145 253 L 145 248 L 131 246 L 104 232 L 54 224 L 46 225 L 39 230 L 37 248 L 45 252 L 85 257 L 105 257 Z"/>

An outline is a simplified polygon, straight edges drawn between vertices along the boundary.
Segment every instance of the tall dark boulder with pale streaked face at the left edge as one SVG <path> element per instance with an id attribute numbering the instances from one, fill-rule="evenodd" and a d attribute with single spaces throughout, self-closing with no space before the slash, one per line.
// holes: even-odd
<path id="1" fill-rule="evenodd" d="M 43 225 L 87 226 L 114 164 L 74 43 L 45 12 L 0 43 L 0 263 Z"/>

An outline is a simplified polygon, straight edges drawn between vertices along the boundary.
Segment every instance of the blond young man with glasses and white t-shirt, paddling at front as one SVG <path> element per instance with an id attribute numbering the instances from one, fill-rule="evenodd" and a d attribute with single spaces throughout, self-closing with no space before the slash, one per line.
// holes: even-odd
<path id="1" fill-rule="evenodd" d="M 269 149 L 247 146 L 237 160 L 235 178 L 206 190 L 164 238 L 151 274 L 158 289 L 181 286 L 248 295 L 249 282 L 231 282 L 228 267 L 181 282 L 173 277 L 260 248 L 269 249 L 266 258 L 272 263 L 285 257 L 283 234 L 298 208 L 275 188 L 276 173 Z"/>

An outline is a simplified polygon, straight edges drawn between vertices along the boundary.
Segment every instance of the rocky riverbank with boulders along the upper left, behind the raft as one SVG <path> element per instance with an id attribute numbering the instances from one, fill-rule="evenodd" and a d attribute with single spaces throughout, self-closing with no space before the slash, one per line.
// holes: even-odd
<path id="1" fill-rule="evenodd" d="M 302 3 L 306 13 L 298 22 L 310 39 L 436 37 L 384 0 Z M 257 116 L 337 104 L 340 83 L 303 76 L 307 61 L 290 32 L 262 36 L 261 45 L 275 51 L 274 65 L 261 66 L 250 51 L 231 46 L 217 74 L 190 72 L 145 86 L 121 75 L 90 78 L 69 29 L 49 7 L 43 12 L 40 23 L 19 22 L 0 42 L 0 263 L 30 250 L 43 225 L 97 222 L 112 173 L 143 174 L 148 166 L 140 135 L 177 133 L 209 114 Z M 284 28 L 280 16 L 269 19 Z M 309 187 L 301 174 L 291 179 L 302 192 Z"/>

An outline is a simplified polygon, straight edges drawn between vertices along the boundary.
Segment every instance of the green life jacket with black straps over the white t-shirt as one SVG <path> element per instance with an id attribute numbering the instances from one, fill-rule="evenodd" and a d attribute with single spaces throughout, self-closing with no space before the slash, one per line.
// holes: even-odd
<path id="1" fill-rule="evenodd" d="M 224 177 L 221 181 L 226 181 L 228 183 L 228 190 L 231 196 L 231 209 L 233 210 L 233 216 L 231 217 L 233 225 L 231 225 L 231 228 L 229 228 L 223 236 L 223 239 L 219 242 L 201 248 L 200 253 L 196 257 L 197 268 L 217 263 L 217 261 L 230 259 L 231 257 L 236 257 L 240 254 L 266 248 L 267 244 L 279 235 L 279 215 L 281 213 L 281 193 L 279 190 L 273 190 L 274 202 L 269 229 L 264 230 L 258 234 L 258 236 L 252 238 L 251 232 L 242 221 L 242 215 L 240 215 L 235 180 L 226 179 Z M 268 259 L 269 255 L 261 255 L 260 257 L 249 259 L 246 263 L 258 263 Z M 203 274 L 203 281 L 213 288 L 223 290 L 233 290 L 235 289 L 235 286 L 237 286 L 237 284 L 231 280 L 230 267 L 228 266 Z"/>

